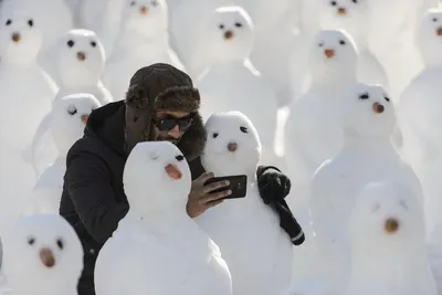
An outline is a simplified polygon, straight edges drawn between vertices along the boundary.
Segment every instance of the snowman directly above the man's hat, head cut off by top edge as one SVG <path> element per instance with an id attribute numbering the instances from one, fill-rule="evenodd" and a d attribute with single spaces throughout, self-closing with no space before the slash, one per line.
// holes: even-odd
<path id="1" fill-rule="evenodd" d="M 116 99 L 122 99 L 134 73 L 158 62 L 183 69 L 169 46 L 166 0 L 124 0 L 122 28 L 107 60 L 103 82 Z"/>

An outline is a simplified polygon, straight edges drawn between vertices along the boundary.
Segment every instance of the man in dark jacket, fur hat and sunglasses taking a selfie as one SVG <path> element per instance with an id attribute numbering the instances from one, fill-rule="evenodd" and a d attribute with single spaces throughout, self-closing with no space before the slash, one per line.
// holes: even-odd
<path id="1" fill-rule="evenodd" d="M 128 211 L 123 169 L 136 144 L 169 140 L 181 149 L 194 179 L 186 208 L 189 217 L 202 214 L 229 194 L 227 190 L 210 193 L 225 187 L 225 182 L 203 186 L 213 175 L 204 172 L 199 161 L 206 143 L 199 106 L 199 92 L 187 74 L 168 64 L 154 64 L 135 73 L 125 101 L 91 114 L 84 137 L 67 154 L 60 204 L 60 214 L 74 226 L 84 247 L 80 295 L 95 294 L 98 251 Z M 282 173 L 273 176 L 262 178 L 265 187 L 273 186 L 276 192 L 271 194 L 284 198 L 290 181 Z"/>

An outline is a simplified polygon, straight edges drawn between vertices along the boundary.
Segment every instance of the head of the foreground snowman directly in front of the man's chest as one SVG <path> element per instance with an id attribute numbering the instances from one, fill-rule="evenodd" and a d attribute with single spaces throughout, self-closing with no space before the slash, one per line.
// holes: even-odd
<path id="1" fill-rule="evenodd" d="M 130 151 L 123 173 L 130 211 L 140 217 L 185 212 L 191 187 L 189 165 L 169 141 L 144 141 Z"/>

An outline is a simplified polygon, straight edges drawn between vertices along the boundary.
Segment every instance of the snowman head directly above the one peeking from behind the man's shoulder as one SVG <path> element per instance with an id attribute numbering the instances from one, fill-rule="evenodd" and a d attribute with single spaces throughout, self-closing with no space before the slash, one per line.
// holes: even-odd
<path id="1" fill-rule="evenodd" d="M 59 73 L 65 87 L 96 86 L 105 53 L 97 35 L 90 30 L 71 30 L 57 44 Z"/>

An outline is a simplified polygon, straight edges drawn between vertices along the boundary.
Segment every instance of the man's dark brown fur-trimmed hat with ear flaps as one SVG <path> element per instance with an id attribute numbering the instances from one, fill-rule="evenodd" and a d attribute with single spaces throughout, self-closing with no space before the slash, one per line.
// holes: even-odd
<path id="1" fill-rule="evenodd" d="M 190 113 L 193 124 L 177 146 L 188 160 L 200 156 L 206 131 L 199 107 L 200 94 L 186 73 L 162 63 L 141 67 L 131 77 L 126 94 L 126 151 L 154 139 L 150 130 L 156 110 L 181 110 Z"/>

